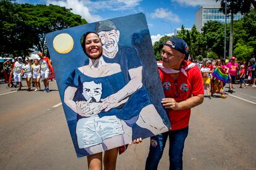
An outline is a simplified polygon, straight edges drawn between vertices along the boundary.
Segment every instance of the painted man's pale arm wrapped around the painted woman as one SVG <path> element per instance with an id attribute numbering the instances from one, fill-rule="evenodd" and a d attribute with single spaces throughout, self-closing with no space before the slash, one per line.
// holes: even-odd
<path id="1" fill-rule="evenodd" d="M 142 67 L 132 68 L 129 70 L 130 81 L 126 86 L 115 94 L 102 99 L 100 110 L 108 111 L 111 108 L 118 107 L 122 103 L 126 103 L 128 97 L 142 87 Z"/>

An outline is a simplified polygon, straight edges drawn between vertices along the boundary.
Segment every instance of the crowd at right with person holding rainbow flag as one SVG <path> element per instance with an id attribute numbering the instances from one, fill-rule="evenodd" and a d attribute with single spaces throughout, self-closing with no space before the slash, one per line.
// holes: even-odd
<path id="1" fill-rule="evenodd" d="M 233 93 L 233 84 L 236 80 L 239 80 L 239 88 L 247 88 L 245 83 L 245 77 L 247 78 L 247 83 L 255 86 L 255 68 L 256 64 L 254 61 L 250 60 L 249 65 L 243 62 L 236 63 L 236 57 L 231 57 L 228 63 L 224 60 L 205 60 L 202 63 L 197 62 L 197 67 L 200 68 L 203 84 L 206 86 L 207 99 L 211 99 L 213 94 L 221 94 L 221 98 L 226 98 L 224 92 L 224 86 L 228 84 L 228 92 Z"/>

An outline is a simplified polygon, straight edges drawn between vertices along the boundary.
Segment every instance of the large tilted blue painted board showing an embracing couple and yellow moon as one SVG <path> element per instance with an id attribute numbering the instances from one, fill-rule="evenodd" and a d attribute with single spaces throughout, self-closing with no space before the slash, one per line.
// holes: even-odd
<path id="1" fill-rule="evenodd" d="M 88 32 L 101 39 L 99 59 L 83 51 Z M 171 128 L 145 15 L 54 31 L 46 42 L 78 157 Z"/>

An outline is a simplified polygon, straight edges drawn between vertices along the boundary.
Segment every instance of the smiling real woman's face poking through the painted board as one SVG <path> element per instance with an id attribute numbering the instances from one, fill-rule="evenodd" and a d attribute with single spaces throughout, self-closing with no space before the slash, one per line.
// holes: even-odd
<path id="1" fill-rule="evenodd" d="M 96 33 L 89 33 L 85 37 L 85 52 L 91 59 L 98 59 L 101 56 L 101 41 Z"/>

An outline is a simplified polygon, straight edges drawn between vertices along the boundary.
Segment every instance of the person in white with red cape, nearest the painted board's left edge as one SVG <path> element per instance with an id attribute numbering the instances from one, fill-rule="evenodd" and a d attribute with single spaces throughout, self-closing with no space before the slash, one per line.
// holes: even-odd
<path id="1" fill-rule="evenodd" d="M 43 52 L 38 53 L 40 56 L 40 65 L 41 65 L 41 77 L 43 79 L 43 84 L 45 85 L 44 92 L 49 92 L 49 73 L 52 74 L 53 67 L 51 66 L 51 62 L 49 62 L 49 58 L 43 55 Z"/>

